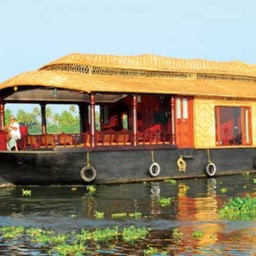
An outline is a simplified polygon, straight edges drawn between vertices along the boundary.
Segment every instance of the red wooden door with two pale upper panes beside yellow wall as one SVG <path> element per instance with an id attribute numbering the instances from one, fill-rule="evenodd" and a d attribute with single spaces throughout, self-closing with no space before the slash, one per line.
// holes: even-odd
<path id="1" fill-rule="evenodd" d="M 176 143 L 179 148 L 193 147 L 192 97 L 176 98 Z"/>

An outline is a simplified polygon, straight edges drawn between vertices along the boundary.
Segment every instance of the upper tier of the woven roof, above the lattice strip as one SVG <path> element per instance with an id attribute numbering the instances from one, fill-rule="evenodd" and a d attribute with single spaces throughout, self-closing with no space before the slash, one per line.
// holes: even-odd
<path id="1" fill-rule="evenodd" d="M 208 61 L 204 59 L 178 59 L 160 55 L 93 55 L 73 53 L 51 61 L 41 67 L 73 64 L 81 66 L 115 67 L 152 71 L 224 73 L 256 77 L 256 65 L 241 61 Z"/>

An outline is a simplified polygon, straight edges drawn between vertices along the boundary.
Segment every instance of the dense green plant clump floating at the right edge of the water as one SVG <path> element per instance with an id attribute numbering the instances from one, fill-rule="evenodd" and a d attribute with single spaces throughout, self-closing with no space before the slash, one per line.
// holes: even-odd
<path id="1" fill-rule="evenodd" d="M 236 197 L 224 203 L 218 211 L 220 218 L 249 220 L 256 218 L 256 198 Z"/>

